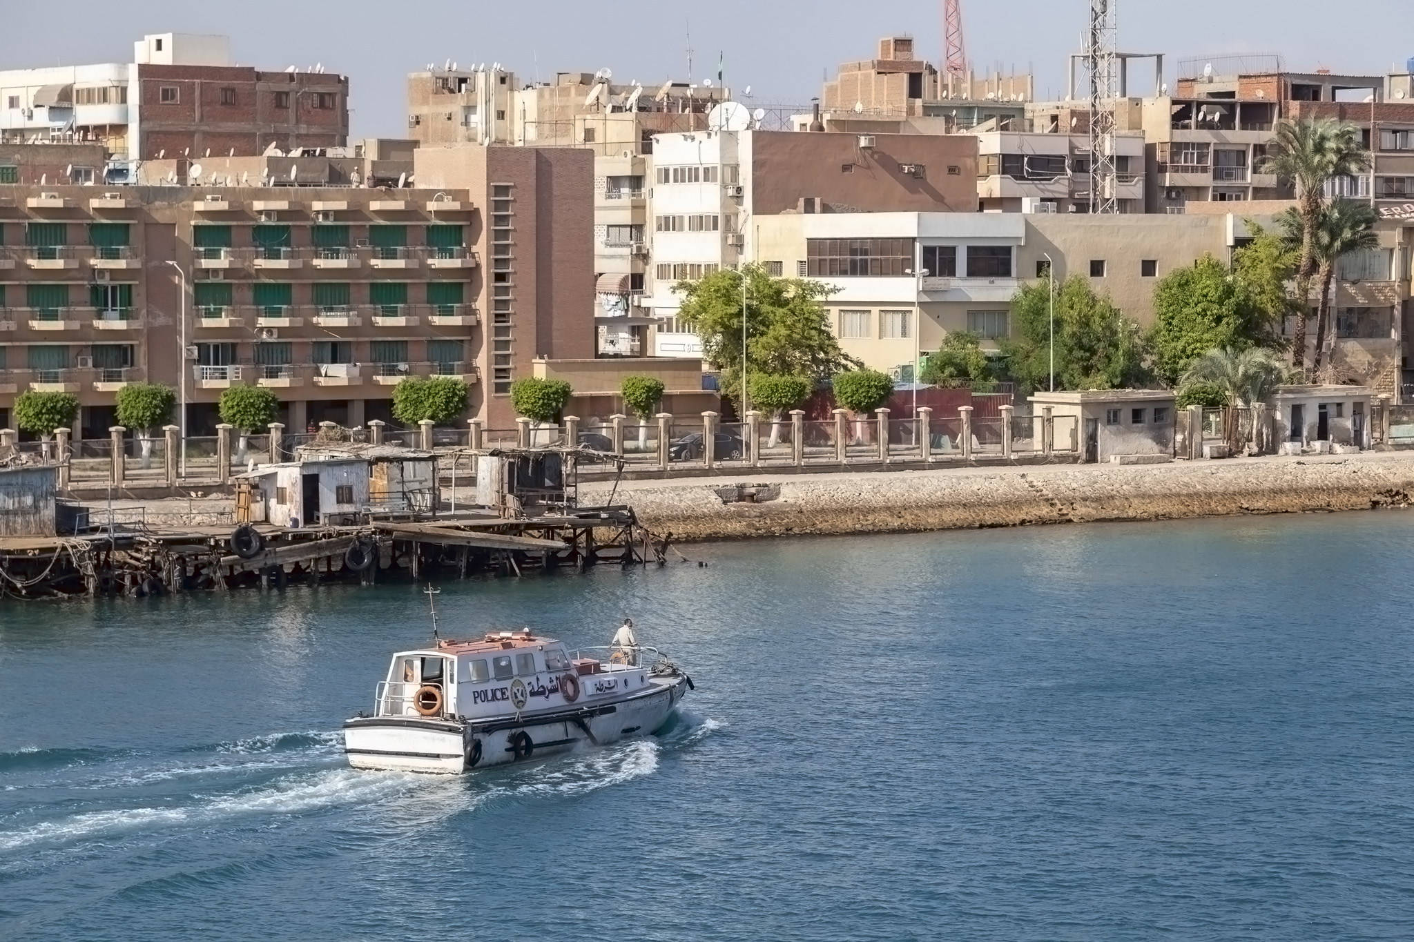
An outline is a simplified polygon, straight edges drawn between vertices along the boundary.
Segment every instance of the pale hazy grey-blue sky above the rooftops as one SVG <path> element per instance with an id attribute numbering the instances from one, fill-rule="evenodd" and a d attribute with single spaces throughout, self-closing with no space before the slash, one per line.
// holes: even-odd
<path id="1" fill-rule="evenodd" d="M 1181 59 L 1280 54 L 1294 71 L 1383 73 L 1414 56 L 1406 0 L 1118 0 L 1120 49 L 1165 54 L 1174 82 Z M 351 136 L 406 131 L 404 76 L 447 59 L 462 68 L 502 62 L 523 82 L 554 72 L 611 68 L 645 85 L 687 75 L 747 85 L 756 105 L 807 105 L 840 62 L 875 55 L 885 35 L 912 35 L 937 62 L 940 0 L 6 0 L 0 68 L 129 62 L 147 32 L 222 32 L 240 65 L 283 71 L 322 64 L 351 79 Z M 978 72 L 1036 75 L 1038 97 L 1060 97 L 1065 62 L 1080 49 L 1083 0 L 962 0 L 967 56 Z M 1381 28 L 1379 24 L 1398 24 Z M 1253 59 L 1257 61 L 1257 59 Z M 1270 61 L 1270 59 L 1267 59 Z M 1202 68 L 1199 64 L 1198 68 Z M 1148 93 L 1152 66 L 1135 64 L 1131 93 Z"/>

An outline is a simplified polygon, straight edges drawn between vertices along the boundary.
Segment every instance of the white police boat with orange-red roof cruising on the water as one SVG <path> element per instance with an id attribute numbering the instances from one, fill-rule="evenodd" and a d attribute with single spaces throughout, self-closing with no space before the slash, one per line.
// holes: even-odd
<path id="1" fill-rule="evenodd" d="M 625 621 L 612 645 L 570 651 L 529 628 L 399 651 L 372 715 L 344 723 L 354 768 L 457 774 L 646 736 L 693 689 Z"/>

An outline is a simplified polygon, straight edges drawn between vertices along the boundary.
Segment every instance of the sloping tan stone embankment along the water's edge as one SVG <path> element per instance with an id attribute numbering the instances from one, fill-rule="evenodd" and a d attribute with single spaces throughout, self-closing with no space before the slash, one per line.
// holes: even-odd
<path id="1" fill-rule="evenodd" d="M 737 500 L 732 484 L 755 487 Z M 609 484 L 581 487 L 583 503 Z M 908 532 L 1102 520 L 1369 510 L 1414 503 L 1414 453 L 1116 466 L 946 469 L 622 482 L 615 503 L 674 541 Z"/>

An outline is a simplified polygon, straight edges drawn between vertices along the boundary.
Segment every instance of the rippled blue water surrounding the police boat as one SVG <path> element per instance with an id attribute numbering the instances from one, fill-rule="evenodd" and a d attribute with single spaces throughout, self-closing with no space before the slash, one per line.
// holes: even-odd
<path id="1" fill-rule="evenodd" d="M 0 609 L 0 936 L 1407 938 L 1398 513 L 687 548 L 443 585 L 697 692 L 653 740 L 355 774 L 413 586 Z"/>

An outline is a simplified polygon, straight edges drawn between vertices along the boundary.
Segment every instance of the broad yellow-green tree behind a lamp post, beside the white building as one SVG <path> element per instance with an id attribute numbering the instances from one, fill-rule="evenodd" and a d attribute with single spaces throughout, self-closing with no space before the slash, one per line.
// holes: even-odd
<path id="1" fill-rule="evenodd" d="M 860 362 L 830 332 L 824 298 L 834 288 L 807 278 L 772 278 L 758 264 L 680 281 L 677 316 L 703 342 L 703 354 L 721 370 L 721 390 L 741 404 L 742 278 L 747 287 L 747 363 L 749 371 L 803 376 L 819 381 Z M 749 393 L 749 387 L 747 390 Z"/>

